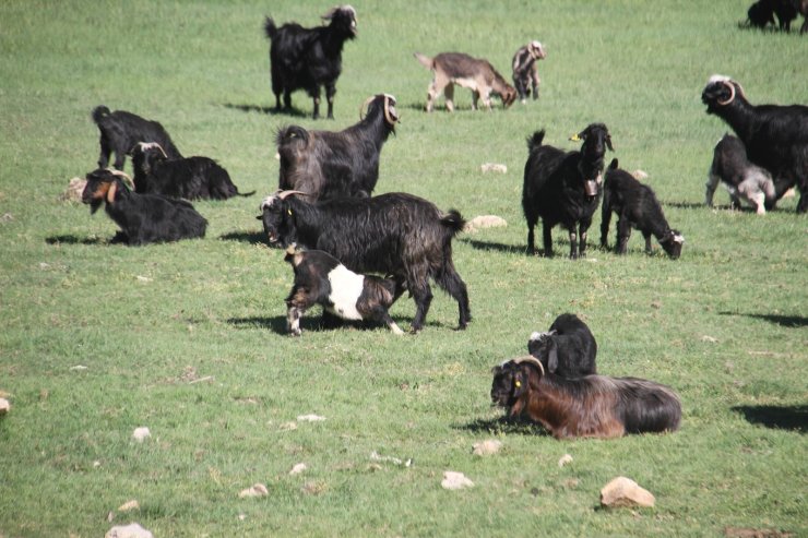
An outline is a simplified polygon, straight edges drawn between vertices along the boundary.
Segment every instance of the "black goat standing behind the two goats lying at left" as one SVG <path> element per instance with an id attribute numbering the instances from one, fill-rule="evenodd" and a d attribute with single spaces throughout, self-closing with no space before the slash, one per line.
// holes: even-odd
<path id="1" fill-rule="evenodd" d="M 100 131 L 98 168 L 109 166 L 109 155 L 115 152 L 115 167 L 122 170 L 127 155 L 131 155 L 140 142 L 156 142 L 169 158 L 182 157 L 166 130 L 156 121 L 143 119 L 126 110 L 110 112 L 104 105 L 95 107 L 93 121 Z"/>

